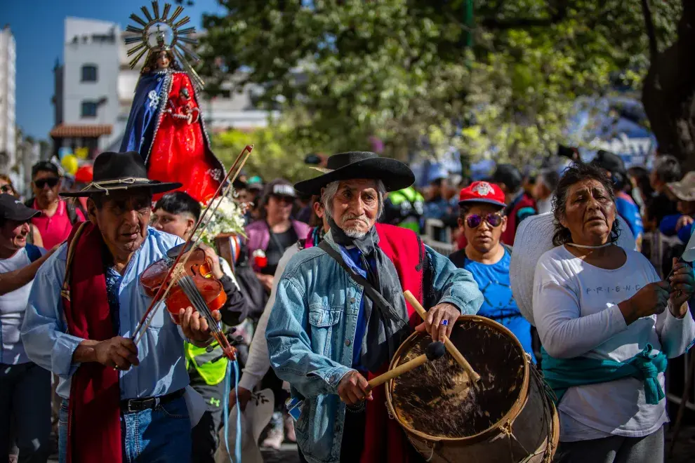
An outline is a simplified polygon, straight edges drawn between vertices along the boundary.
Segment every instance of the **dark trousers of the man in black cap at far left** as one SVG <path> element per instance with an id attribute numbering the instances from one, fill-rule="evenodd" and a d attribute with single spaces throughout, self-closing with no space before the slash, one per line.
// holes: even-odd
<path id="1" fill-rule="evenodd" d="M 6 462 L 12 442 L 20 463 L 45 463 L 51 449 L 51 373 L 35 363 L 0 363 L 0 462 Z"/>

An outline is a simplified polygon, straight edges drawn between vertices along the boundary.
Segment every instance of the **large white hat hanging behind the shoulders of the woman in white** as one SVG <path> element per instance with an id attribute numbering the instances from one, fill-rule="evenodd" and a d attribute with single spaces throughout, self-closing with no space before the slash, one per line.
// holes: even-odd
<path id="1" fill-rule="evenodd" d="M 512 295 L 517 307 L 531 325 L 534 322 L 534 274 L 536 263 L 545 251 L 555 248 L 552 236 L 555 234 L 555 217 L 552 213 L 531 215 L 525 218 L 517 228 L 509 263 L 509 279 Z M 635 249 L 635 236 L 630 228 L 623 224 L 618 238 L 618 246 Z"/>

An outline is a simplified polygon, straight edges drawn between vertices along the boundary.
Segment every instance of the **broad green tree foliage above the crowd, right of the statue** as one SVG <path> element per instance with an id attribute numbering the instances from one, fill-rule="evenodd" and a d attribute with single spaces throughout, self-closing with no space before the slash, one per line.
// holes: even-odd
<path id="1" fill-rule="evenodd" d="M 639 85 L 649 41 L 638 0 L 220 0 L 204 17 L 208 90 L 237 72 L 293 118 L 307 146 L 355 149 L 375 134 L 402 156 L 539 161 L 564 140 L 574 100 Z M 468 27 L 467 8 L 473 8 Z M 670 43 L 680 4 L 654 2 Z M 467 46 L 472 39 L 472 46 Z M 456 126 L 463 126 L 457 131 Z"/>

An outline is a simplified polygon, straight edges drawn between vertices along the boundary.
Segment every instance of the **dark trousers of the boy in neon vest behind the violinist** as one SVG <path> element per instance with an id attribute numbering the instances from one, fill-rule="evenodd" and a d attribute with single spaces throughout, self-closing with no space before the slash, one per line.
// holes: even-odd
<path id="1" fill-rule="evenodd" d="M 220 429 L 223 424 L 225 382 L 209 385 L 191 368 L 188 371 L 190 385 L 205 399 L 207 410 L 198 424 L 191 430 L 193 439 L 192 463 L 214 463 L 215 452 L 220 444 Z"/>

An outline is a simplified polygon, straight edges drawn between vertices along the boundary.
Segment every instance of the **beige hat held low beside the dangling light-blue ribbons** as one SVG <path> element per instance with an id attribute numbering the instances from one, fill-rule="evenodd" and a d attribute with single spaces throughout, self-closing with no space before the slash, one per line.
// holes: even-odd
<path id="1" fill-rule="evenodd" d="M 244 463 L 263 463 L 263 455 L 258 448 L 258 438 L 265 429 L 265 425 L 270 422 L 272 410 L 275 405 L 272 390 L 263 389 L 251 393 L 251 399 L 246 404 L 246 409 L 241 412 L 241 461 Z M 234 405 L 230 412 L 229 424 L 227 425 L 227 438 L 230 443 L 230 452 L 234 454 L 234 444 L 237 439 L 237 413 L 239 407 Z M 225 429 L 220 430 L 220 446 L 215 454 L 216 463 L 231 463 L 230 455 L 227 455 L 225 445 Z M 236 462 L 234 462 L 236 463 Z"/>

